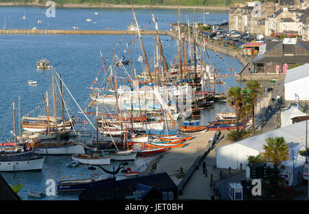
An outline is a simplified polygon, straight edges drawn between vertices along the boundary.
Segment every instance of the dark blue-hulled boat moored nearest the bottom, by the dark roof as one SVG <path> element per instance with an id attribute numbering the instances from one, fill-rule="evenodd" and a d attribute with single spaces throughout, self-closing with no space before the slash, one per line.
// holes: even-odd
<path id="1" fill-rule="evenodd" d="M 57 191 L 82 191 L 89 187 L 89 185 L 101 185 L 104 182 L 111 182 L 114 178 L 91 178 L 86 179 L 76 179 L 76 180 L 61 180 L 57 182 Z"/>

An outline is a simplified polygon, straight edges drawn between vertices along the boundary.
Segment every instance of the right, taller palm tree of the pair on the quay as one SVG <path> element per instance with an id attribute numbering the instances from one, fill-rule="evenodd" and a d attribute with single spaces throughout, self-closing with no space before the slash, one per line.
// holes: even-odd
<path id="1" fill-rule="evenodd" d="M 255 106 L 258 103 L 258 99 L 262 97 L 263 90 L 262 85 L 256 80 L 248 81 L 247 87 L 252 97 L 251 99 L 252 130 L 253 133 L 255 133 Z"/>

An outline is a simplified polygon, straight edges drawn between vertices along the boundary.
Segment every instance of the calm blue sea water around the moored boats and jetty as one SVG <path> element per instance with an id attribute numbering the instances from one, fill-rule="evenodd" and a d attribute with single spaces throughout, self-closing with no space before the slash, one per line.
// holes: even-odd
<path id="1" fill-rule="evenodd" d="M 45 14 L 46 8 L 25 8 L 25 7 L 1 7 L 0 8 L 0 26 L 4 25 L 8 29 L 29 29 L 36 26 L 38 29 L 71 29 L 73 25 L 79 29 L 126 29 L 133 21 L 132 10 L 129 9 L 56 9 L 56 18 L 47 18 Z M 25 12 L 26 19 L 23 20 Z M 98 15 L 94 15 L 98 12 Z M 150 10 L 136 10 L 137 20 L 142 27 L 148 26 L 151 21 Z M 154 10 L 155 15 L 159 17 L 159 29 L 170 29 L 169 23 L 177 22 L 176 10 Z M 191 20 L 192 10 L 181 10 L 181 21 L 185 22 L 185 16 Z M 89 23 L 87 18 L 97 22 Z M 196 12 L 198 22 L 203 21 L 203 11 Z M 228 19 L 227 12 L 209 12 L 205 14 L 205 23 L 222 23 Z M 37 21 L 42 23 L 38 24 Z M 126 43 L 130 43 L 135 36 L 133 35 L 0 35 L 0 134 L 1 140 L 10 138 L 10 130 L 12 130 L 12 101 L 17 104 L 18 98 L 21 98 L 21 115 L 37 115 L 41 111 L 39 104 L 43 103 L 42 95 L 47 90 L 50 91 L 52 84 L 52 71 L 39 71 L 36 69 L 36 61 L 41 58 L 47 58 L 54 66 L 58 73 L 62 74 L 62 78 L 75 97 L 81 108 L 84 109 L 90 102 L 89 93 L 91 91 L 87 87 L 94 85 L 93 81 L 104 71 L 100 71 L 102 60 L 100 51 L 104 58 L 108 58 L 106 64 L 109 66 L 113 60 L 113 48 L 119 58 L 124 56 L 128 58 Z M 174 60 L 176 51 L 176 41 L 171 40 L 169 36 L 161 36 L 163 40 L 163 49 L 165 58 L 168 62 Z M 120 42 L 119 42 L 120 41 Z M 143 41 L 148 58 L 153 57 L 155 50 L 155 40 L 153 36 L 143 36 Z M 141 71 L 142 64 L 137 61 L 141 55 L 141 48 L 136 42 L 130 45 L 130 56 L 133 60 L 133 67 Z M 242 64 L 235 58 L 220 54 L 224 61 L 216 56 L 213 51 L 208 50 L 209 63 L 214 62 L 216 69 L 220 73 L 231 74 L 229 67 L 239 72 Z M 227 64 L 229 67 L 227 67 Z M 127 71 L 130 67 L 125 65 Z M 124 75 L 124 71 L 120 71 Z M 130 72 L 129 72 L 130 73 Z M 99 76 L 101 77 L 101 76 Z M 29 86 L 28 80 L 36 80 L 37 86 Z M 222 78 L 223 82 L 227 82 L 229 86 L 236 86 L 236 77 Z M 119 84 L 122 84 L 119 81 Z M 78 107 L 72 99 L 67 103 L 70 112 L 74 112 L 75 117 L 82 117 L 78 114 Z M 42 105 L 41 105 L 42 107 Z M 225 104 L 215 104 L 210 109 L 203 110 L 201 115 L 201 123 L 206 124 L 215 117 L 216 112 L 220 112 L 225 108 Z M 33 112 L 34 110 L 34 112 Z M 90 117 L 93 121 L 94 118 Z M 179 121 L 182 123 L 183 121 Z M 93 132 L 91 126 L 86 125 L 84 128 Z M 89 141 L 92 141 L 92 137 Z M 129 162 L 129 167 L 133 171 L 142 171 L 153 157 L 136 158 L 135 161 Z M 29 198 L 28 190 L 45 191 L 45 182 L 47 179 L 61 180 L 62 178 L 87 178 L 91 175 L 87 165 L 79 165 L 76 168 L 67 167 L 66 163 L 70 160 L 69 156 L 45 156 L 42 171 L 28 172 L 6 172 L 1 173 L 3 178 L 10 185 L 25 185 L 19 195 L 24 200 L 36 200 Z M 112 163 L 106 169 L 112 170 L 112 166 L 117 167 L 119 163 Z M 102 173 L 97 170 L 94 173 Z M 117 176 L 122 179 L 122 176 Z M 79 193 L 57 193 L 56 196 L 45 197 L 39 200 L 78 200 Z"/>

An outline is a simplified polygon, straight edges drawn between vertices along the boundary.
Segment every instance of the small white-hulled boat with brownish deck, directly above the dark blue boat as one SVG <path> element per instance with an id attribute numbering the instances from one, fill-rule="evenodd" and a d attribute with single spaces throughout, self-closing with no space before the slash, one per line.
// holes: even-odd
<path id="1" fill-rule="evenodd" d="M 100 156 L 99 154 L 73 154 L 72 160 L 78 160 L 78 162 L 87 165 L 110 165 L 111 158 Z"/>

